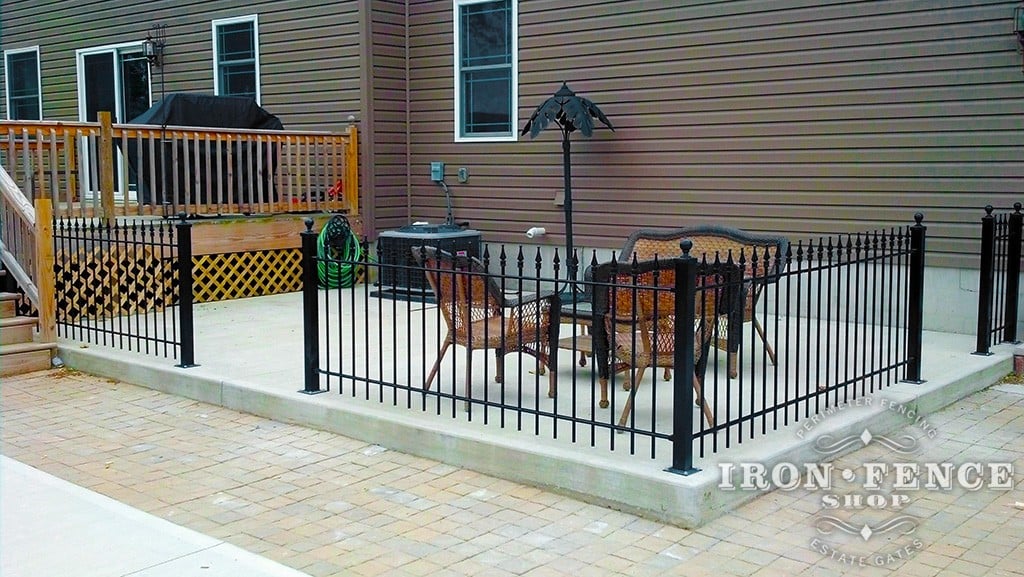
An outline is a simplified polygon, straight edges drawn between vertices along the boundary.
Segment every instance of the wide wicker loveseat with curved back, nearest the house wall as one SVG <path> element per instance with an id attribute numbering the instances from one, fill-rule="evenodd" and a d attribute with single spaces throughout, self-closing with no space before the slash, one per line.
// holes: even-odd
<path id="1" fill-rule="evenodd" d="M 790 241 L 785 237 L 759 235 L 715 224 L 666 230 L 641 229 L 626 240 L 618 259 L 625 262 L 632 260 L 634 255 L 638 260 L 649 260 L 654 256 L 662 258 L 679 256 L 679 243 L 683 239 L 693 242 L 690 255 L 697 259 L 703 258 L 708 262 L 714 262 L 716 259 L 726 261 L 731 257 L 733 262 L 738 263 L 742 255 L 745 264 L 743 278 L 746 280 L 746 294 L 741 322 L 754 323 L 754 328 L 765 345 L 765 352 L 774 365 L 775 349 L 768 342 L 764 327 L 761 326 L 755 311 L 764 288 L 774 283 L 781 274 Z M 729 318 L 728 315 L 719 318 L 716 346 L 728 351 L 729 377 L 735 378 L 739 373 L 739 361 L 737 344 L 734 343 L 738 343 L 740 327 L 732 326 Z M 729 335 L 732 338 L 722 335 Z"/>

